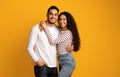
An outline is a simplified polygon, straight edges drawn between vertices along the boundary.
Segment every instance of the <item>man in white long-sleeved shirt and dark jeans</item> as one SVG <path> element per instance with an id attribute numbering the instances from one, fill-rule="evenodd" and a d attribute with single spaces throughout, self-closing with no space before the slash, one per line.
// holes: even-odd
<path id="1" fill-rule="evenodd" d="M 47 11 L 47 26 L 52 37 L 56 39 L 59 29 L 55 25 L 58 19 L 59 9 L 51 6 Z M 32 28 L 28 40 L 28 53 L 34 62 L 35 77 L 57 77 L 56 45 L 50 45 L 44 30 L 40 31 L 39 24 Z M 70 51 L 72 47 L 67 47 Z"/>

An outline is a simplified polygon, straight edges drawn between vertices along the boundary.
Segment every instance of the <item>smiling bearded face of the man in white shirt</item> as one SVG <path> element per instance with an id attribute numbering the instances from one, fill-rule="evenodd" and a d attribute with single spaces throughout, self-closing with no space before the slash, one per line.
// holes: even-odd
<path id="1" fill-rule="evenodd" d="M 56 9 L 50 9 L 47 13 L 47 20 L 50 24 L 55 24 L 58 19 L 58 11 Z"/>

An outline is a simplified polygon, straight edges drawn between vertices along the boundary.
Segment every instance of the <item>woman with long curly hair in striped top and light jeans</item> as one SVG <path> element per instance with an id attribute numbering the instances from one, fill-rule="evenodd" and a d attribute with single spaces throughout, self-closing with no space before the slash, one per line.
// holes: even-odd
<path id="1" fill-rule="evenodd" d="M 42 26 L 44 27 L 50 44 L 58 45 L 58 60 L 61 67 L 58 77 L 71 77 L 75 68 L 75 61 L 71 52 L 66 51 L 66 46 L 73 43 L 74 51 L 78 51 L 80 47 L 80 38 L 76 22 L 70 13 L 60 13 L 58 16 L 58 24 L 60 25 L 60 34 L 55 40 L 52 38 L 45 22 L 42 23 Z"/>

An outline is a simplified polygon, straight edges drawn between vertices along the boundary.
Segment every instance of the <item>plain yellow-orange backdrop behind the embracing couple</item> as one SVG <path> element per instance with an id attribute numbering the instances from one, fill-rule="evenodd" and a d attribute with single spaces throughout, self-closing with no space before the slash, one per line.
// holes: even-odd
<path id="1" fill-rule="evenodd" d="M 73 52 L 72 77 L 120 77 L 119 0 L 0 0 L 0 77 L 34 77 L 28 35 L 51 5 L 78 24 L 81 50 Z"/>

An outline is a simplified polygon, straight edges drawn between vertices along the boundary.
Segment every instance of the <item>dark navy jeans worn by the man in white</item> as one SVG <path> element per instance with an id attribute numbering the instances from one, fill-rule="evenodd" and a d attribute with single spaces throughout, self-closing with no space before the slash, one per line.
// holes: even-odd
<path id="1" fill-rule="evenodd" d="M 34 66 L 35 77 L 57 77 L 57 67 L 49 68 L 47 66 Z"/>

